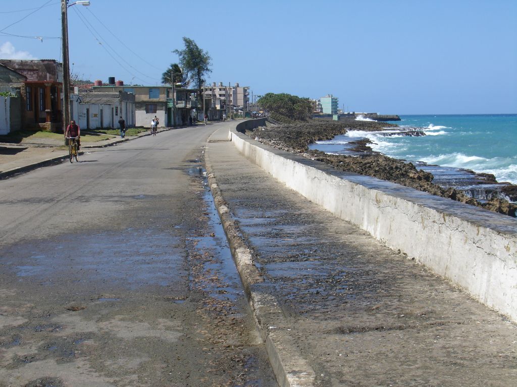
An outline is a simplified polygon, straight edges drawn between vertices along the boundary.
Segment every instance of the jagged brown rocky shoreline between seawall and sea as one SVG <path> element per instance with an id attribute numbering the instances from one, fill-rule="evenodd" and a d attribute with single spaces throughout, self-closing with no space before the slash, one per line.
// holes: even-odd
<path id="1" fill-rule="evenodd" d="M 432 173 L 417 168 L 413 163 L 372 151 L 369 147 L 370 140 L 368 139 L 349 142 L 347 150 L 351 151 L 351 155 L 335 155 L 308 149 L 310 143 L 330 140 L 337 135 L 345 134 L 347 131 L 387 131 L 386 134 L 388 134 L 392 128 L 396 127 L 398 125 L 353 119 L 343 121 L 317 120 L 316 122 L 268 125 L 267 127 L 256 128 L 248 132 L 248 135 L 273 147 L 288 152 L 301 153 L 306 157 L 332 165 L 339 170 L 372 176 L 377 179 L 413 187 L 432 195 L 515 217 L 517 205 L 508 200 L 493 196 L 489 200 L 479 201 L 466 195 L 459 189 L 453 187 L 443 188 L 433 182 L 434 176 Z M 423 133 L 423 130 L 414 128 L 414 130 L 404 132 L 407 132 L 407 135 L 421 135 L 420 133 Z M 500 191 L 504 192 L 506 196 L 510 198 L 517 197 L 517 186 L 498 183 L 495 176 L 490 174 L 470 172 L 478 177 L 479 184 L 500 185 Z"/>

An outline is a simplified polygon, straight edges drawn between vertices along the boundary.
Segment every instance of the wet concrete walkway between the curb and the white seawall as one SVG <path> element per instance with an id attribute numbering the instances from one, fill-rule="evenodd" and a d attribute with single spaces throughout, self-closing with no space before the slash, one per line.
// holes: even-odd
<path id="1" fill-rule="evenodd" d="M 207 163 L 262 273 L 252 294 L 281 309 L 257 318 L 307 362 L 314 380 L 303 385 L 514 385 L 507 318 L 278 183 L 231 142 L 209 142 Z"/>

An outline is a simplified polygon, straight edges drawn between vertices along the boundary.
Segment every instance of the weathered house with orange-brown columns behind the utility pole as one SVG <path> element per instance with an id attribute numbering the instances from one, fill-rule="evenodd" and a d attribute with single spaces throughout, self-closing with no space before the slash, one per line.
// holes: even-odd
<path id="1" fill-rule="evenodd" d="M 5 68 L 25 77 L 20 86 L 22 105 L 21 122 L 25 128 L 44 128 L 58 132 L 62 130 L 63 108 L 63 65 L 54 59 L 16 60 L 0 59 Z M 21 78 L 13 79 L 19 84 Z M 5 87 L 5 86 L 4 86 Z"/>

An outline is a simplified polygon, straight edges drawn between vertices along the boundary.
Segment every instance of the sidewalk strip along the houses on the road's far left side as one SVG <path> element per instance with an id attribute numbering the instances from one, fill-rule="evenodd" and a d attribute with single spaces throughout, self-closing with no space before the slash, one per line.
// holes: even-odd
<path id="1" fill-rule="evenodd" d="M 158 133 L 170 131 L 173 128 L 162 127 Z M 138 136 L 127 138 L 113 137 L 107 140 L 86 142 L 81 140 L 79 155 L 88 149 L 105 148 L 115 144 L 150 136 L 149 131 Z M 63 162 L 68 158 L 68 149 L 64 140 L 41 139 L 38 142 L 22 142 L 19 144 L 0 142 L 0 179 L 5 179 L 16 173 L 27 172 L 36 168 Z"/>

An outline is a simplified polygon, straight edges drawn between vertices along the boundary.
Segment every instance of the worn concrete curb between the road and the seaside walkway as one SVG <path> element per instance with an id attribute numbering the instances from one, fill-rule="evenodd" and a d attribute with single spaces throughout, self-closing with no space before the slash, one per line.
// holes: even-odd
<path id="1" fill-rule="evenodd" d="M 210 142 L 210 139 L 208 139 Z M 217 142 L 217 141 L 216 141 Z M 208 185 L 214 197 L 215 206 L 221 219 L 226 238 L 237 266 L 253 318 L 261 339 L 265 343 L 269 362 L 281 387 L 311 387 L 314 385 L 315 373 L 306 359 L 300 354 L 288 334 L 288 326 L 283 312 L 275 297 L 254 289 L 255 284 L 264 282 L 264 278 L 254 265 L 251 251 L 237 222 L 233 219 L 230 209 L 217 185 L 216 176 L 212 171 L 210 158 L 205 152 L 205 166 L 208 175 Z"/>

